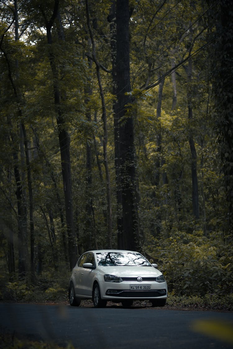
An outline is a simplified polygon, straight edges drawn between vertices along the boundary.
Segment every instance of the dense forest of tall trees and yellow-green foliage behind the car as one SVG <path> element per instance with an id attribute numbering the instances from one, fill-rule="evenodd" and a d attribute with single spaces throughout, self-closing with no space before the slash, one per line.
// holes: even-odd
<path id="1" fill-rule="evenodd" d="M 0 1 L 0 299 L 121 248 L 233 304 L 232 8 Z"/>

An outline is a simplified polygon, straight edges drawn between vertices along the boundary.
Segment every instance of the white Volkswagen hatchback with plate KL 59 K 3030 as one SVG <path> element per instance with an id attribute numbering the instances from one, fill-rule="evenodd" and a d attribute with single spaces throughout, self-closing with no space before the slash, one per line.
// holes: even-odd
<path id="1" fill-rule="evenodd" d="M 125 250 L 94 250 L 81 255 L 69 281 L 70 305 L 92 299 L 95 307 L 107 301 L 130 307 L 134 300 L 164 306 L 167 283 L 163 274 L 143 255 Z"/>

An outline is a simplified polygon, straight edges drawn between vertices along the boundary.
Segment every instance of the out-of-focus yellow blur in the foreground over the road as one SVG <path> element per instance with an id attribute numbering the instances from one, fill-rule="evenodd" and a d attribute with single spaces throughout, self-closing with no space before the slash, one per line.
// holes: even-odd
<path id="1" fill-rule="evenodd" d="M 214 319 L 196 320 L 192 329 L 210 337 L 233 344 L 233 323 Z"/>

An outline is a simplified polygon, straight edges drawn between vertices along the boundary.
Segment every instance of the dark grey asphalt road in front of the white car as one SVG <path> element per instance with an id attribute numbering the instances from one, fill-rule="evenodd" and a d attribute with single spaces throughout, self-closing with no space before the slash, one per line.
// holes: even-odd
<path id="1" fill-rule="evenodd" d="M 0 303 L 0 332 L 80 349 L 232 349 L 226 327 L 233 333 L 233 313 Z"/>

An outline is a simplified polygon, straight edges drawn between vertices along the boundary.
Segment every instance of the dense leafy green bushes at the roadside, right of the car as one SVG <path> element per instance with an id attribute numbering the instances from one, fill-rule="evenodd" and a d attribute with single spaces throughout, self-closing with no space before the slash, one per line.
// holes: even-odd
<path id="1" fill-rule="evenodd" d="M 152 239 L 148 251 L 166 275 L 170 295 L 223 296 L 232 292 L 232 250 L 220 234 L 207 238 L 200 230 L 195 234 L 175 232 L 167 239 Z"/>

